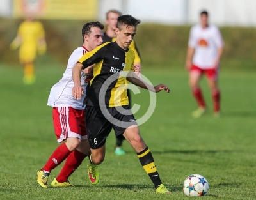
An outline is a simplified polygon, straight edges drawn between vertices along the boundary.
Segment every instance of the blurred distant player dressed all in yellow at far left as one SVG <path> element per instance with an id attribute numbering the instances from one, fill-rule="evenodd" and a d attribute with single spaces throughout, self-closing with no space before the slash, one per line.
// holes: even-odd
<path id="1" fill-rule="evenodd" d="M 43 55 L 46 51 L 45 31 L 41 22 L 28 15 L 19 26 L 16 38 L 10 45 L 10 49 L 19 49 L 19 60 L 24 65 L 24 84 L 35 82 L 34 61 L 36 54 Z"/>

